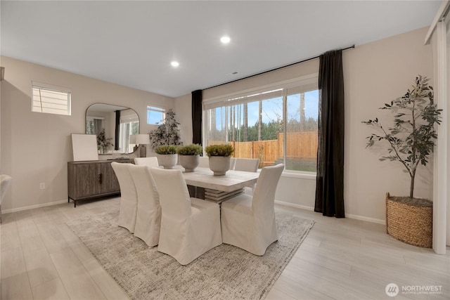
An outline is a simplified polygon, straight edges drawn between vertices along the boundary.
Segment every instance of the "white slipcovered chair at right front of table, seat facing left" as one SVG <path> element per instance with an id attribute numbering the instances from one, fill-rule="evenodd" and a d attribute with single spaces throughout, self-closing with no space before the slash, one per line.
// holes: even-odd
<path id="1" fill-rule="evenodd" d="M 225 244 L 264 255 L 276 240 L 275 190 L 284 165 L 264 167 L 253 196 L 240 194 L 221 203 L 221 230 Z"/>

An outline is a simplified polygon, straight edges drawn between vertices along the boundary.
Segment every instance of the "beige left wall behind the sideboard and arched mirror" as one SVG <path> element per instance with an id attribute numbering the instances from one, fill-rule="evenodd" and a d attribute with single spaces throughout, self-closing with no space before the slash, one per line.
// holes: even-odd
<path id="1" fill-rule="evenodd" d="M 13 178 L 2 211 L 66 201 L 67 162 L 72 160 L 70 133 L 85 133 L 89 105 L 101 102 L 136 110 L 141 133 L 148 133 L 146 106 L 174 107 L 174 99 L 155 93 L 1 57 L 0 173 Z M 72 115 L 31 112 L 31 81 L 65 86 L 72 91 Z M 45 190 L 39 189 L 45 183 Z"/>

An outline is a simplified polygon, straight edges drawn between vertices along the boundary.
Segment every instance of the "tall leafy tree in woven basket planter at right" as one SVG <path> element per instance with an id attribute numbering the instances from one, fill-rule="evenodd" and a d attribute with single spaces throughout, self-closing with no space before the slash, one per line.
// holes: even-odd
<path id="1" fill-rule="evenodd" d="M 440 124 L 442 110 L 433 100 L 429 79 L 418 75 L 413 89 L 404 96 L 385 103 L 382 110 L 394 113 L 394 126 L 385 129 L 378 118 L 365 124 L 374 126 L 380 133 L 368 136 L 367 147 L 378 142 L 387 145 L 387 156 L 380 161 L 400 162 L 411 178 L 409 197 L 386 195 L 387 233 L 408 244 L 432 247 L 432 202 L 414 198 L 414 181 L 419 164 L 426 166 L 433 152 L 437 133 L 434 125 Z"/>

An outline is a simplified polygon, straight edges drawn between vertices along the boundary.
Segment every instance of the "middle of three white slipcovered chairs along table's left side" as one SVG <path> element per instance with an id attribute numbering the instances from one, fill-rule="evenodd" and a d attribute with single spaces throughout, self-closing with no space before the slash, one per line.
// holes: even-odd
<path id="1" fill-rule="evenodd" d="M 154 247 L 160 240 L 160 196 L 150 174 L 150 167 L 129 164 L 128 168 L 138 196 L 134 236 L 146 242 L 148 247 Z"/>

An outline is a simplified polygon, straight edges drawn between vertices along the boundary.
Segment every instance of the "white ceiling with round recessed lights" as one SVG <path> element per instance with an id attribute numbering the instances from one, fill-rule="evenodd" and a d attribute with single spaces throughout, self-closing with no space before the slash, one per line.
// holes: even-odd
<path id="1" fill-rule="evenodd" d="M 0 51 L 176 97 L 426 27 L 440 4 L 2 0 Z M 229 44 L 219 41 L 224 35 Z M 179 67 L 172 67 L 172 60 Z"/>

